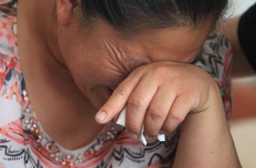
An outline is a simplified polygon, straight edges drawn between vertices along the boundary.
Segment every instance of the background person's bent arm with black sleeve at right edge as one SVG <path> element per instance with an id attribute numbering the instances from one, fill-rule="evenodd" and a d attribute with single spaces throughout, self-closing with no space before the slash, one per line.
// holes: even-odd
<path id="1" fill-rule="evenodd" d="M 256 4 L 242 16 L 221 24 L 234 51 L 232 76 L 256 75 Z"/>

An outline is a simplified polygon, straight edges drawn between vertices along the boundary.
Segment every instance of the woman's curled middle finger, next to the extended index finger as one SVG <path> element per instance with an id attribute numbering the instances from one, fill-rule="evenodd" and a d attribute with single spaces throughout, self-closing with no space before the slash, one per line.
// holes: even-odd
<path id="1" fill-rule="evenodd" d="M 130 138 L 137 139 L 141 133 L 144 117 L 149 104 L 157 91 L 157 80 L 145 77 L 137 84 L 128 102 L 126 130 Z"/>

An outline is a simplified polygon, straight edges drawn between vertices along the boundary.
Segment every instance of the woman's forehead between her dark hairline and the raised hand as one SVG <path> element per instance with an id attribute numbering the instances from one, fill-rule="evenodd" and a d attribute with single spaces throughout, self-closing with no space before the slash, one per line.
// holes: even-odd
<path id="1" fill-rule="evenodd" d="M 212 20 L 206 20 L 201 27 L 170 27 L 144 30 L 128 41 L 130 50 L 135 50 L 133 44 L 143 48 L 151 61 L 188 62 L 202 50 L 205 39 L 209 36 Z M 137 49 L 140 50 L 140 49 Z"/>

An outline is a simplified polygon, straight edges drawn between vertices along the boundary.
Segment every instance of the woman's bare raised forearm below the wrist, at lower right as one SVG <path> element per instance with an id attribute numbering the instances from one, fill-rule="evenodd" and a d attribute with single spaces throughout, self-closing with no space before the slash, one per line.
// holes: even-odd
<path id="1" fill-rule="evenodd" d="M 186 117 L 173 167 L 241 167 L 220 94 L 210 108 Z"/>

